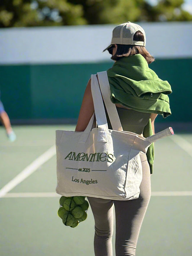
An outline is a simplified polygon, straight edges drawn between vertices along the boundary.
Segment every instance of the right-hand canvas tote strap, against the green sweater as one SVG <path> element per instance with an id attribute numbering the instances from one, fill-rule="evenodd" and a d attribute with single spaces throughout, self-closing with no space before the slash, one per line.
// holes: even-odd
<path id="1" fill-rule="evenodd" d="M 98 72 L 97 75 L 98 75 L 101 93 L 102 93 L 103 100 L 107 109 L 107 113 L 111 122 L 112 129 L 116 131 L 123 131 L 116 106 L 114 103 L 111 102 L 111 99 L 110 99 L 111 92 L 110 92 L 110 85 L 109 85 L 109 80 L 107 76 L 107 71 Z"/>

